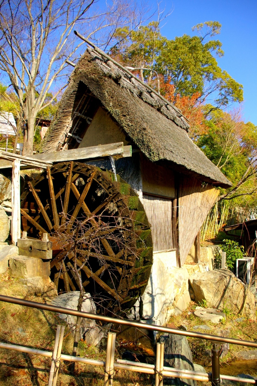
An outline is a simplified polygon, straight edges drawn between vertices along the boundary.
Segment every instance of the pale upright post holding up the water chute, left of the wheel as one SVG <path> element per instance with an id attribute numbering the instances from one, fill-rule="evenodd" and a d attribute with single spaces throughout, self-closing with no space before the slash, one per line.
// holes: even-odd
<path id="1" fill-rule="evenodd" d="M 20 239 L 20 160 L 12 163 L 12 245 Z"/>

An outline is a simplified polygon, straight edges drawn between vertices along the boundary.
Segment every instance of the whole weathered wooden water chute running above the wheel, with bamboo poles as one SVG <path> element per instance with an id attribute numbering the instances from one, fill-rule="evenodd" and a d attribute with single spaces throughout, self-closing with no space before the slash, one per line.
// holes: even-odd
<path id="1" fill-rule="evenodd" d="M 0 152 L 0 169 L 11 168 L 14 159 L 20 159 L 21 168 L 44 168 L 51 166 L 54 162 L 78 161 L 87 159 L 97 159 L 110 156 L 131 157 L 132 147 L 123 146 L 123 142 L 114 144 L 81 147 L 79 149 L 55 151 L 52 153 L 35 154 L 30 157 L 19 156 L 5 151 Z"/>

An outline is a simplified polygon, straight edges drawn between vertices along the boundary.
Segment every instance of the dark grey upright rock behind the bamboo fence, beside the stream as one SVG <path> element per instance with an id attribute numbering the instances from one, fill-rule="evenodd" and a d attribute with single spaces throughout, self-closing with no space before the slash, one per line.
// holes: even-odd
<path id="1" fill-rule="evenodd" d="M 161 335 L 160 342 L 164 342 L 164 366 L 194 371 L 192 352 L 186 337 L 164 334 Z M 196 381 L 193 379 L 164 377 L 164 384 L 196 386 Z"/>

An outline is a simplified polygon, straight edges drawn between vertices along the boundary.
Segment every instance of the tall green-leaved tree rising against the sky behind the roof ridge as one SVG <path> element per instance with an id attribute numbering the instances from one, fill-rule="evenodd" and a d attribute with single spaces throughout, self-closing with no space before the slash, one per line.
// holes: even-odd
<path id="1" fill-rule="evenodd" d="M 224 55 L 221 42 L 211 39 L 220 33 L 221 24 L 205 22 L 193 27 L 197 35 L 183 35 L 168 40 L 161 35 L 159 22 L 152 22 L 137 31 L 117 30 L 122 43 L 112 54 L 127 66 L 147 67 L 164 76 L 174 85 L 174 95 L 191 97 L 199 93 L 201 101 L 211 95 L 211 107 L 220 108 L 232 102 L 242 102 L 243 86 L 222 70 L 216 57 Z M 152 81 L 150 71 L 141 71 L 141 78 Z"/>

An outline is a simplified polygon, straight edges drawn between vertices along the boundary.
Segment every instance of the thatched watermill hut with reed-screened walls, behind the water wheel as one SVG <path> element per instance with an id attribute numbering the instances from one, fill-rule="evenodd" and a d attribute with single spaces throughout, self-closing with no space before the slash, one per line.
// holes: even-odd
<path id="1" fill-rule="evenodd" d="M 88 48 L 71 74 L 42 152 L 122 141 L 132 157 L 117 173 L 138 193 L 152 226 L 154 252 L 182 266 L 216 187 L 230 181 L 188 136 L 178 108 L 99 49 Z M 94 161 L 111 169 L 111 163 Z"/>

